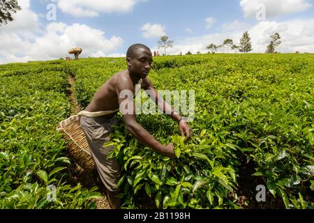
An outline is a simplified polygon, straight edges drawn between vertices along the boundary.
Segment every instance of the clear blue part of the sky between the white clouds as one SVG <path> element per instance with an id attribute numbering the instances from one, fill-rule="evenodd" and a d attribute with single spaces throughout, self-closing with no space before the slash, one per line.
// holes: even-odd
<path id="1" fill-rule="evenodd" d="M 45 13 L 46 3 L 31 1 L 31 8 L 36 13 Z M 230 8 L 235 9 L 230 13 Z M 204 35 L 213 30 L 204 29 L 207 17 L 216 17 L 220 21 L 230 22 L 234 18 L 241 18 L 241 8 L 238 0 L 228 1 L 190 1 L 190 0 L 151 0 L 138 3 L 128 13 L 102 13 L 98 17 L 73 17 L 57 10 L 57 20 L 66 24 L 87 24 L 93 29 L 106 32 L 106 36 L 121 36 L 125 44 L 122 52 L 126 52 L 128 45 L 133 43 L 145 43 L 154 47 L 158 38 L 147 39 L 142 37 L 140 28 L 143 24 L 162 24 L 171 38 L 185 38 L 193 36 L 193 33 Z M 43 20 L 45 24 L 49 21 Z M 190 28 L 188 28 L 190 27 Z M 214 24 L 213 28 L 217 28 Z M 185 29 L 191 29 L 193 33 L 187 33 Z"/>

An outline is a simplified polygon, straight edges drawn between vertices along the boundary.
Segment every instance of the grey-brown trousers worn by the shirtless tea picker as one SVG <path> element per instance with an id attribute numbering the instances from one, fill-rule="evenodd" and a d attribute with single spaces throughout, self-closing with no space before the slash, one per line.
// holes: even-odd
<path id="1" fill-rule="evenodd" d="M 103 144 L 110 141 L 109 135 L 112 132 L 112 125 L 117 124 L 117 117 L 89 118 L 81 116 L 80 122 L 103 184 L 107 190 L 117 191 L 120 165 L 117 160 L 107 159 L 107 155 L 114 149 L 114 146 L 103 146 Z"/>

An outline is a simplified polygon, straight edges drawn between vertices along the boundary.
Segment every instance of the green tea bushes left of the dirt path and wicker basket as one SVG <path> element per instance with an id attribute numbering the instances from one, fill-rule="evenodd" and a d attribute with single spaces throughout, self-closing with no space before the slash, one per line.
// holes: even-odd
<path id="1" fill-rule="evenodd" d="M 71 161 L 56 131 L 70 115 L 66 73 L 36 63 L 0 70 L 15 72 L 0 76 L 0 208 L 95 208 L 96 188 L 67 183 Z"/>

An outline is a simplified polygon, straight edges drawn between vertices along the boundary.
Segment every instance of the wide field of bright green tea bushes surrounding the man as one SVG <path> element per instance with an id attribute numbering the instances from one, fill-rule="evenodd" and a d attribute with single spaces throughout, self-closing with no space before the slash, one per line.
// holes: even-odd
<path id="1" fill-rule="evenodd" d="M 73 180 L 56 125 L 74 106 L 68 77 L 84 109 L 125 68 L 117 58 L 0 66 L 0 208 L 96 208 L 101 191 Z M 195 91 L 193 134 L 184 142 L 168 116 L 137 116 L 174 143 L 170 159 L 134 139 L 119 114 L 110 156 L 121 163 L 123 208 L 314 208 L 313 54 L 159 56 L 149 78 L 159 90 Z"/>

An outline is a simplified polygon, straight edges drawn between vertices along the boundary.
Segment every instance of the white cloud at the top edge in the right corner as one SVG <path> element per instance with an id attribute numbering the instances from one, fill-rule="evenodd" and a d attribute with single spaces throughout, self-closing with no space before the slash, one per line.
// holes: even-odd
<path id="1" fill-rule="evenodd" d="M 262 4 L 262 5 L 261 5 Z M 256 17 L 256 13 L 264 6 L 266 19 L 280 15 L 299 13 L 312 7 L 308 0 L 241 0 L 240 6 L 245 17 Z"/>

